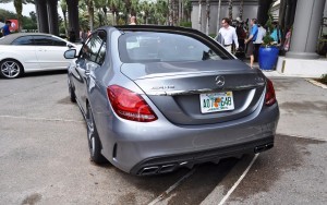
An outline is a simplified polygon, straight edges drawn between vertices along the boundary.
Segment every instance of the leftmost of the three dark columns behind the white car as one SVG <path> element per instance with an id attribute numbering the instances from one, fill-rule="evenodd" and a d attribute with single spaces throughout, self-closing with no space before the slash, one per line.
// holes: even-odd
<path id="1" fill-rule="evenodd" d="M 47 4 L 45 1 L 35 0 L 36 7 L 36 15 L 38 22 L 38 32 L 40 33 L 49 33 L 49 24 L 48 24 L 48 14 L 47 14 Z"/>

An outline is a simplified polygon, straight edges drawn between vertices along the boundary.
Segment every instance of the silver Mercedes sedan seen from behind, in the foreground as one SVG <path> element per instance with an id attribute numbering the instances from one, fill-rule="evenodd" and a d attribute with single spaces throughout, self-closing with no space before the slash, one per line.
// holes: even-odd
<path id="1" fill-rule="evenodd" d="M 198 31 L 100 27 L 64 56 L 95 162 L 157 174 L 274 146 L 271 81 Z"/>

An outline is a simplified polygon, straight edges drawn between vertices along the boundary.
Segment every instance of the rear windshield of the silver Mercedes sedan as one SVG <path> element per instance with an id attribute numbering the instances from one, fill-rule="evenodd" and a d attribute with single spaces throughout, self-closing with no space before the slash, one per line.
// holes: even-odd
<path id="1" fill-rule="evenodd" d="M 169 33 L 125 33 L 119 38 L 119 51 L 122 62 L 231 59 L 218 45 L 210 48 L 196 38 Z"/>

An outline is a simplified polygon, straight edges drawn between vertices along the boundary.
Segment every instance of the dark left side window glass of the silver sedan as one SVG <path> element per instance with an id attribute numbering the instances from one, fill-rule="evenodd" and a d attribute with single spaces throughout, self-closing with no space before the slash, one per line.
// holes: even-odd
<path id="1" fill-rule="evenodd" d="M 94 33 L 82 47 L 81 58 L 102 64 L 106 57 L 106 37 L 107 34 L 102 31 Z"/>

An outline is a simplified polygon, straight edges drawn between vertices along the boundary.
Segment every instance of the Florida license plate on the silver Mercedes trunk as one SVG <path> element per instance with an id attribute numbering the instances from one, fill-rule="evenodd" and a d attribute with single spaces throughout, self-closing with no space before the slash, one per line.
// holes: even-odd
<path id="1" fill-rule="evenodd" d="M 234 109 L 232 92 L 199 94 L 199 102 L 202 113 Z"/>

